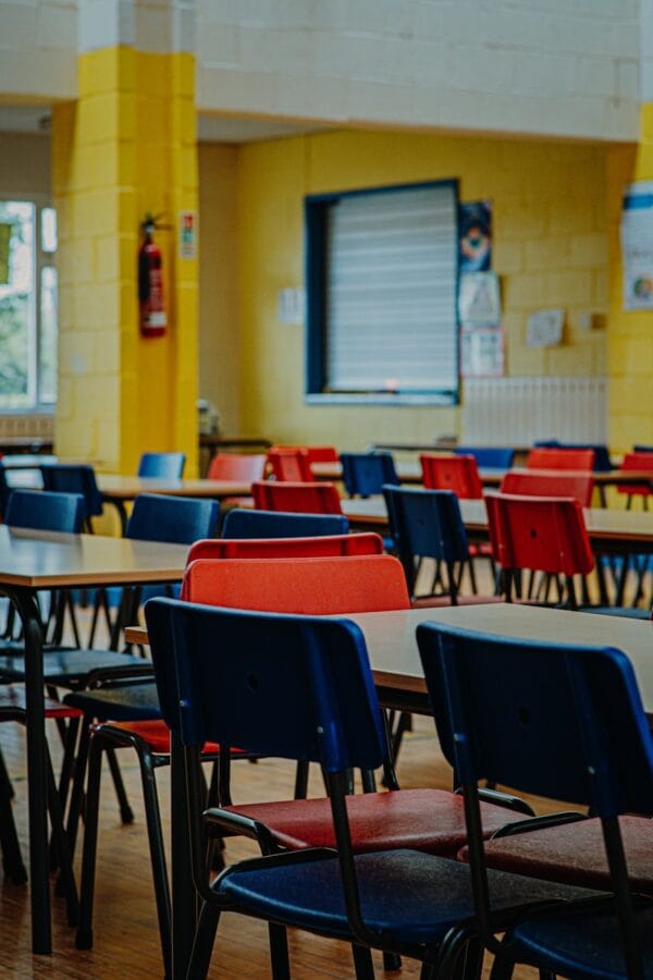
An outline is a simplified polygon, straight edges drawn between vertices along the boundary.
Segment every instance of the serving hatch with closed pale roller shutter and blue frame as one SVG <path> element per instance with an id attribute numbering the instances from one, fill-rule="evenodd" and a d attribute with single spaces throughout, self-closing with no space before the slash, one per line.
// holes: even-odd
<path id="1" fill-rule="evenodd" d="M 456 404 L 456 182 L 305 205 L 308 401 Z"/>

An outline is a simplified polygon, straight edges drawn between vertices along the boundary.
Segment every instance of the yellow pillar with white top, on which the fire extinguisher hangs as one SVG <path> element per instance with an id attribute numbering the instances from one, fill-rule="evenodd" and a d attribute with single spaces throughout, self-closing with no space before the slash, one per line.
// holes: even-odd
<path id="1" fill-rule="evenodd" d="M 180 49 L 180 37 L 193 32 L 177 29 L 175 0 L 139 8 L 139 0 L 83 0 L 78 99 L 53 111 L 61 237 L 56 449 L 122 473 L 134 473 L 144 451 L 182 450 L 194 475 L 197 258 L 178 247 L 180 212 L 197 212 L 195 54 Z M 192 14 L 192 4 L 183 12 Z M 169 228 L 155 234 L 168 330 L 146 339 L 137 255 L 147 212 Z"/>

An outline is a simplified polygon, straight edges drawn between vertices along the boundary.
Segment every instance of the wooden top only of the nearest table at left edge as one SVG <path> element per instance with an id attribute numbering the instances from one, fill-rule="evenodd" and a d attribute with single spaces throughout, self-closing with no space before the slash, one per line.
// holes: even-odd
<path id="1" fill-rule="evenodd" d="M 181 581 L 188 548 L 101 535 L 0 526 L 0 587 L 56 588 Z"/>

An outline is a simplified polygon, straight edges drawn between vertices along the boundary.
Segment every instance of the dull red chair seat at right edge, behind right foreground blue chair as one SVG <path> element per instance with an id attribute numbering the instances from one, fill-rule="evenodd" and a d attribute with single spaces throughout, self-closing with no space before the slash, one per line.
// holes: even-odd
<path id="1" fill-rule="evenodd" d="M 620 817 L 628 877 L 636 892 L 653 896 L 653 820 Z M 460 852 L 466 860 L 467 848 Z M 601 821 L 532 830 L 488 841 L 485 859 L 491 868 L 560 881 L 590 889 L 609 889 L 609 871 Z"/>

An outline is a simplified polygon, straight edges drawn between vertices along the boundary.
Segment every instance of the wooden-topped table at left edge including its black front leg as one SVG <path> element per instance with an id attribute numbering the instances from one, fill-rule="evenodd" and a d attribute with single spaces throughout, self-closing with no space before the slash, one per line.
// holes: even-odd
<path id="1" fill-rule="evenodd" d="M 180 581 L 187 548 L 100 535 L 46 534 L 0 526 L 0 592 L 23 625 L 27 731 L 32 948 L 50 953 L 46 733 L 39 589 Z"/>

